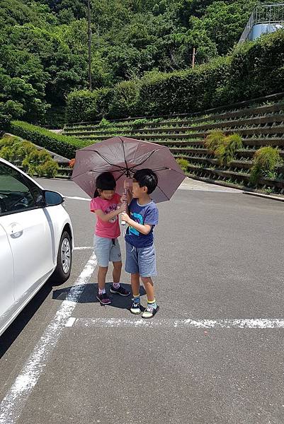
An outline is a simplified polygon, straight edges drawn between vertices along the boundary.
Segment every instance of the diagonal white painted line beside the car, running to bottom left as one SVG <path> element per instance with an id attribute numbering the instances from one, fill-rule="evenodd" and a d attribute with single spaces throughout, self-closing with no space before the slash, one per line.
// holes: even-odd
<path id="1" fill-rule="evenodd" d="M 38 345 L 33 349 L 33 352 L 21 370 L 21 374 L 16 377 L 12 387 L 8 390 L 3 401 L 1 401 L 0 424 L 14 424 L 18 420 L 25 406 L 25 401 L 27 401 L 30 392 L 35 387 L 35 384 L 37 384 L 42 371 L 45 370 L 47 361 L 55 349 L 62 331 L 67 325 L 67 322 L 70 322 L 69 318 L 86 284 L 89 282 L 96 264 L 96 255 L 92 254 L 83 271 L 81 271 L 79 278 L 77 278 L 76 283 L 69 291 L 66 300 L 62 302 L 52 322 L 50 322 L 42 334 Z"/>

